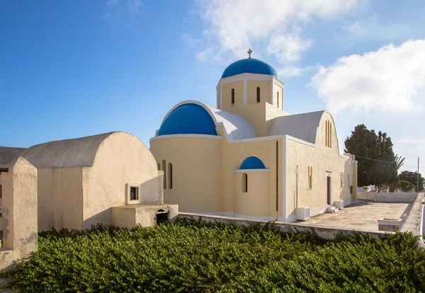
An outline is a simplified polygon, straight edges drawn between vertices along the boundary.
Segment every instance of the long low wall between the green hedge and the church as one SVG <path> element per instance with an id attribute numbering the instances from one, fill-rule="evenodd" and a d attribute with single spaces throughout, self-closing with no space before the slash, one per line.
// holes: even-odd
<path id="1" fill-rule="evenodd" d="M 222 217 L 222 216 L 212 216 L 205 214 L 191 214 L 187 212 L 179 213 L 178 219 L 202 219 L 205 222 L 220 222 L 222 224 L 230 224 L 234 226 L 247 226 L 248 224 L 266 224 L 267 221 L 261 220 L 252 220 L 252 219 L 242 219 L 242 218 L 234 218 L 234 217 Z M 378 238 L 379 236 L 385 234 L 393 234 L 394 232 L 387 231 L 370 231 L 370 230 L 361 230 L 361 229 L 344 229 L 340 227 L 327 227 L 327 226 L 319 226 L 319 225 L 299 225 L 296 223 L 283 223 L 283 222 L 274 222 L 273 226 L 276 226 L 283 232 L 290 231 L 314 231 L 317 235 L 324 239 L 334 239 L 337 234 L 351 235 L 354 232 L 363 232 L 372 235 L 374 238 Z"/>

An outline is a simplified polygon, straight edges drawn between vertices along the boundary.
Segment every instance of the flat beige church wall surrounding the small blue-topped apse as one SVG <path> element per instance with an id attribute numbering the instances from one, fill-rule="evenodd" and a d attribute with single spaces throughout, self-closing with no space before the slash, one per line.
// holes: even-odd
<path id="1" fill-rule="evenodd" d="M 276 142 L 278 142 L 278 158 L 276 158 Z M 244 159 L 249 156 L 256 156 L 263 161 L 266 168 L 270 171 L 268 177 L 269 195 L 259 193 L 256 196 L 261 197 L 268 205 L 268 213 L 263 217 L 281 217 L 281 194 L 282 194 L 282 139 L 257 140 L 251 142 L 234 142 L 223 144 L 223 196 L 225 200 L 225 210 L 227 213 L 234 213 L 235 207 L 235 189 L 239 188 L 236 183 L 235 170 L 238 170 Z M 276 159 L 278 159 L 278 211 L 276 211 Z M 254 216 L 256 212 L 256 202 L 246 200 L 244 210 L 247 214 L 243 216 Z"/>

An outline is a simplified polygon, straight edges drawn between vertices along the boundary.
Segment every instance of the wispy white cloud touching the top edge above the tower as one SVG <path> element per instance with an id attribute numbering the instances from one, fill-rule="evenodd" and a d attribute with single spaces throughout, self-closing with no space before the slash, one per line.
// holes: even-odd
<path id="1" fill-rule="evenodd" d="M 211 42 L 219 45 L 218 52 L 245 57 L 253 42 L 269 43 L 272 35 L 282 35 L 288 25 L 302 25 L 312 18 L 328 20 L 350 13 L 363 2 L 365 0 L 204 0 L 198 1 L 198 7 L 205 33 L 213 37 Z M 301 50 L 311 45 L 308 40 L 298 43 Z M 271 47 L 274 47 L 272 43 Z M 295 47 L 287 51 L 288 54 L 282 52 L 283 57 L 299 59 Z M 276 47 L 273 52 L 278 52 Z"/>

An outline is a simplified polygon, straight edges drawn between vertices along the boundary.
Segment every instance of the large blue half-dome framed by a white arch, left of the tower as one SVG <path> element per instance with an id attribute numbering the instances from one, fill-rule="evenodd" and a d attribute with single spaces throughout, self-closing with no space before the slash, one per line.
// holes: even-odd
<path id="1" fill-rule="evenodd" d="M 158 135 L 210 134 L 217 135 L 215 122 L 202 106 L 183 104 L 173 110 L 159 127 Z"/>

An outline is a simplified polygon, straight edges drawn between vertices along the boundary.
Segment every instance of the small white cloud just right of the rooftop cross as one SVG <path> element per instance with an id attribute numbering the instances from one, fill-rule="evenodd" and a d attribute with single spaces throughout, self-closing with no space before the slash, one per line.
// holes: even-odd
<path id="1" fill-rule="evenodd" d="M 301 40 L 295 34 L 273 35 L 267 47 L 269 54 L 274 54 L 280 62 L 295 62 L 301 58 L 301 53 L 305 52 L 312 45 L 312 40 Z"/>

